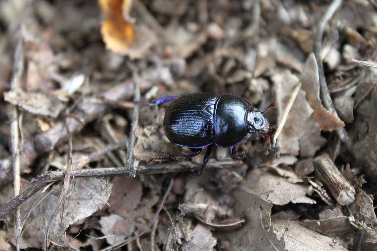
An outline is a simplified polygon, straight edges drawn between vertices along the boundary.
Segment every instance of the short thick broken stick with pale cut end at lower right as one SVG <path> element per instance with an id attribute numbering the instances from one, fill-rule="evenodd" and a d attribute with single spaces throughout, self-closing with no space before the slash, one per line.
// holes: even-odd
<path id="1" fill-rule="evenodd" d="M 328 154 L 315 158 L 313 164 L 316 177 L 340 205 L 354 202 L 355 189 L 346 181 Z"/>

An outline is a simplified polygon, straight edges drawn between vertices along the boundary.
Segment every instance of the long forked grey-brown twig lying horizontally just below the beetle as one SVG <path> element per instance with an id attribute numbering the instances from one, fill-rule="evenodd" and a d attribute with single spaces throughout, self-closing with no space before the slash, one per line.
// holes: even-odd
<path id="1" fill-rule="evenodd" d="M 111 146 L 117 146 L 116 150 L 120 147 L 125 146 L 125 142 L 123 142 L 123 145 L 120 144 L 113 144 Z M 103 151 L 101 149 L 101 151 Z M 98 153 L 98 152 L 96 152 Z M 102 153 L 100 155 L 96 155 L 96 158 L 98 156 L 101 156 L 105 153 Z M 92 154 L 93 155 L 93 154 Z M 118 168 L 118 167 L 108 167 L 108 168 L 95 168 L 95 169 L 80 169 L 78 170 L 78 166 L 84 166 L 87 163 L 90 162 L 91 158 L 90 156 L 87 156 L 86 158 L 83 158 L 79 161 L 75 161 L 73 163 L 73 169 L 69 173 L 70 178 L 79 178 L 79 177 L 114 177 L 114 176 L 126 176 L 129 175 L 129 172 L 126 167 Z M 78 163 L 79 162 L 79 163 Z M 228 161 L 217 161 L 217 162 L 210 162 L 207 164 L 206 169 L 210 168 L 233 168 L 235 166 L 240 165 L 238 162 L 234 162 L 232 160 Z M 64 168 L 64 167 L 63 167 Z M 159 163 L 159 164 L 153 164 L 153 165 L 139 165 L 138 170 L 136 173 L 138 174 L 153 174 L 153 173 L 172 173 L 172 172 L 180 172 L 180 171 L 189 171 L 189 170 L 195 170 L 198 168 L 198 164 L 186 161 L 186 162 L 175 162 L 171 164 L 166 163 Z M 4 219 L 6 214 L 12 212 L 17 206 L 21 205 L 24 201 L 29 199 L 33 194 L 37 193 L 40 189 L 42 189 L 45 185 L 47 185 L 49 182 L 54 181 L 60 181 L 64 179 L 66 176 L 66 171 L 52 171 L 48 172 L 46 174 L 43 174 L 41 176 L 38 176 L 35 180 L 32 181 L 32 185 L 30 185 L 28 188 L 26 188 L 20 195 L 13 198 L 11 201 L 9 201 L 7 204 L 5 204 L 3 207 L 0 208 L 0 220 Z"/>

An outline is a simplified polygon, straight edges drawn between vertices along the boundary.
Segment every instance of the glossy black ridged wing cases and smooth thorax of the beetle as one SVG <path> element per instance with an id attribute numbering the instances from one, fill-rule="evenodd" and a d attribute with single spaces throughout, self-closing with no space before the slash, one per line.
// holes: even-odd
<path id="1" fill-rule="evenodd" d="M 251 104 L 231 94 L 193 93 L 175 99 L 166 109 L 164 129 L 176 145 L 203 148 L 215 143 L 231 147 L 246 138 Z"/>

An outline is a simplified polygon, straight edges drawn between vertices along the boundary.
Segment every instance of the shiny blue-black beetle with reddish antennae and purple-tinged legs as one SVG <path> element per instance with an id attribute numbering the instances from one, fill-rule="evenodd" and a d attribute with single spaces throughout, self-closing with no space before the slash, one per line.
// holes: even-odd
<path id="1" fill-rule="evenodd" d="M 205 165 L 211 156 L 213 147 L 229 147 L 233 160 L 242 161 L 246 154 L 236 155 L 235 145 L 240 144 L 247 133 L 259 133 L 265 139 L 270 123 L 263 113 L 271 106 L 276 106 L 274 101 L 262 112 L 252 106 L 245 99 L 232 94 L 220 95 L 216 92 L 193 93 L 176 97 L 164 97 L 154 104 L 158 106 L 166 101 L 173 100 L 165 111 L 163 122 L 165 134 L 173 144 L 190 148 L 187 155 L 170 155 L 155 157 L 166 161 L 176 161 L 178 158 L 189 158 L 201 153 L 207 147 L 201 167 L 196 174 L 201 176 Z"/>

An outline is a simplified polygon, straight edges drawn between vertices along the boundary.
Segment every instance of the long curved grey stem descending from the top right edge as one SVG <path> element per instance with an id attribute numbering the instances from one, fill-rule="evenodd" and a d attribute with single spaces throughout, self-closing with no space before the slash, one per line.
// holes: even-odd
<path id="1" fill-rule="evenodd" d="M 343 0 L 334 0 L 329 6 L 329 8 L 327 9 L 327 11 L 325 12 L 325 15 L 323 15 L 322 20 L 320 21 L 318 25 L 318 31 L 317 31 L 316 37 L 314 38 L 314 47 L 313 47 L 313 52 L 317 59 L 320 95 L 323 101 L 323 105 L 326 107 L 327 110 L 329 110 L 331 113 L 333 113 L 337 117 L 339 116 L 338 116 L 338 113 L 336 112 L 333 101 L 331 100 L 330 92 L 326 84 L 326 78 L 325 78 L 325 73 L 323 71 L 323 63 L 321 59 L 322 58 L 321 48 L 322 48 L 323 33 L 325 32 L 326 24 L 331 19 L 331 17 L 333 17 L 335 11 L 339 8 L 340 5 L 342 5 L 342 3 L 343 3 Z M 337 129 L 336 132 L 343 142 L 351 140 L 344 127 Z"/>

